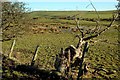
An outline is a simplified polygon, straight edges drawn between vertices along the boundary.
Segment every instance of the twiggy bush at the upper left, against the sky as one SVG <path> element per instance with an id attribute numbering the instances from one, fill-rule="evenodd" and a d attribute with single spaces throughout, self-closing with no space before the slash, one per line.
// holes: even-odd
<path id="1" fill-rule="evenodd" d="M 2 3 L 2 30 L 3 40 L 16 37 L 23 29 L 28 9 L 23 2 L 3 2 Z"/>

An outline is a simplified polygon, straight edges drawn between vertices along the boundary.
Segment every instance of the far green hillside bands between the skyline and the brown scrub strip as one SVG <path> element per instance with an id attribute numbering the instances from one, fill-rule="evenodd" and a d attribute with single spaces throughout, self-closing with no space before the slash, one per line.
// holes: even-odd
<path id="1" fill-rule="evenodd" d="M 100 19 L 109 19 L 112 18 L 112 15 L 115 11 L 98 11 Z M 59 26 L 76 26 L 74 20 L 67 20 L 67 19 L 59 19 L 59 17 L 68 17 L 73 16 L 76 14 L 80 14 L 77 17 L 83 18 L 85 20 L 80 20 L 80 25 L 82 26 L 95 26 L 96 22 L 93 21 L 87 21 L 89 19 L 98 19 L 98 16 L 96 12 L 94 11 L 34 11 L 30 12 L 28 14 L 31 23 L 36 23 L 39 25 L 39 23 L 48 24 L 51 23 L 59 24 Z M 36 18 L 37 19 L 33 19 Z M 54 19 L 51 19 L 54 18 Z M 108 25 L 109 21 L 100 21 L 101 25 Z M 30 25 L 31 26 L 31 25 Z"/>

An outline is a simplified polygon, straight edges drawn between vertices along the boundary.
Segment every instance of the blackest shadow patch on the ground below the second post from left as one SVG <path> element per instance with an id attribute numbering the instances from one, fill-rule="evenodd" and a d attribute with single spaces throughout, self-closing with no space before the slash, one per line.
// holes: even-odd
<path id="1" fill-rule="evenodd" d="M 65 77 L 59 76 L 56 71 L 47 71 L 29 65 L 18 65 L 14 70 L 27 73 L 41 80 L 66 80 Z"/>

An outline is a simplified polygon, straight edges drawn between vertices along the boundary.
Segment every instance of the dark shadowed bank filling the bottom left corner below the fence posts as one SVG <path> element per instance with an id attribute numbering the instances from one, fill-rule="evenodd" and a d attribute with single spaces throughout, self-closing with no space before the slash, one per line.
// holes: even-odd
<path id="1" fill-rule="evenodd" d="M 67 80 L 56 71 L 38 69 L 35 66 L 19 64 L 6 56 L 2 58 L 2 79 L 12 80 Z"/>

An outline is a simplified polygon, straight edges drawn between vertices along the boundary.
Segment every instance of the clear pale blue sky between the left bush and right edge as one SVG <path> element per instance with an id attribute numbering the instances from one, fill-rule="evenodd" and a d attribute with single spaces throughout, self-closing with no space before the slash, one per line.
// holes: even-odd
<path id="1" fill-rule="evenodd" d="M 92 3 L 99 11 L 115 10 L 115 5 L 117 5 L 117 2 Z M 94 10 L 93 7 L 89 4 L 89 2 L 28 2 L 27 7 L 31 8 L 32 11 Z"/>

